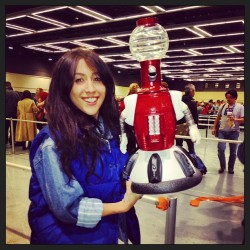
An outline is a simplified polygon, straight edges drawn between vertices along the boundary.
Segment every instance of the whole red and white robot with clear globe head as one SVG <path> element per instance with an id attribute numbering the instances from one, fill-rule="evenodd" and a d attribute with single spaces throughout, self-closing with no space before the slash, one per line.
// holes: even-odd
<path id="1" fill-rule="evenodd" d="M 202 180 L 181 147 L 174 146 L 176 120 L 185 116 L 194 143 L 201 136 L 180 91 L 168 91 L 161 84 L 161 58 L 165 56 L 169 39 L 155 17 L 137 21 L 130 40 L 130 51 L 141 65 L 141 89 L 124 98 L 121 113 L 122 152 L 127 137 L 124 123 L 134 126 L 139 149 L 124 169 L 123 177 L 132 181 L 133 192 L 162 194 L 189 189 Z"/>

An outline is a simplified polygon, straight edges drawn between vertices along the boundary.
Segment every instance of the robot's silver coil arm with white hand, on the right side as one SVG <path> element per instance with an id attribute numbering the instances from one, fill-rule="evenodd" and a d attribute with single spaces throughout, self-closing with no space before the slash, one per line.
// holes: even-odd
<path id="1" fill-rule="evenodd" d="M 185 120 L 188 124 L 188 128 L 189 128 L 189 135 L 191 137 L 191 140 L 196 143 L 199 144 L 200 140 L 201 140 L 201 135 L 200 135 L 200 131 L 197 127 L 197 124 L 195 124 L 192 113 L 190 112 L 190 109 L 188 108 L 188 106 L 182 102 L 182 112 L 184 114 Z"/>

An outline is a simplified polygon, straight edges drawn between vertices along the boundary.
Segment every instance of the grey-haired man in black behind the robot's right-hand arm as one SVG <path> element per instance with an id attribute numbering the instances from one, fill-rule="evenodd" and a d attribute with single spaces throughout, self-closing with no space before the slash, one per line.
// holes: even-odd
<path id="1" fill-rule="evenodd" d="M 196 105 L 196 102 L 193 98 L 195 95 L 195 86 L 191 83 L 187 84 L 185 86 L 184 92 L 185 92 L 185 94 L 182 96 L 182 101 L 187 104 L 187 106 L 188 106 L 188 108 L 193 116 L 194 122 L 198 126 L 197 105 Z M 185 122 L 186 122 L 186 120 L 183 117 L 181 120 L 177 121 L 176 124 L 177 125 L 183 124 Z M 183 146 L 183 141 L 185 141 L 187 143 L 189 153 L 195 154 L 194 143 L 192 142 L 191 139 L 176 138 L 175 140 L 176 140 L 176 145 L 181 146 L 181 147 Z"/>

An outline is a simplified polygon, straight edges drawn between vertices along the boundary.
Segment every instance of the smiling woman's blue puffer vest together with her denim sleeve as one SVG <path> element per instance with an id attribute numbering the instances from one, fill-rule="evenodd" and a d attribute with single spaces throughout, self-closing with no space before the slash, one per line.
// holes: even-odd
<path id="1" fill-rule="evenodd" d="M 75 179 L 69 182 L 60 168 L 59 155 L 48 127 L 40 131 L 30 149 L 32 176 L 28 220 L 31 244 L 117 244 L 121 232 L 119 223 L 124 222 L 121 217 L 127 225 L 120 228 L 127 228 L 128 237 L 134 244 L 140 243 L 134 208 L 125 217 L 124 214 L 100 216 L 102 203 L 122 200 L 125 190 L 121 174 L 128 160 L 128 155 L 121 153 L 114 139 L 107 140 L 101 156 L 104 168 L 100 161 L 96 165 L 96 173 L 102 176 L 101 179 L 93 175 L 90 182 L 86 182 L 87 167 L 83 166 L 83 161 L 80 163 L 83 156 L 79 154 L 71 163 Z M 84 202 L 95 203 L 96 210 L 92 213 L 96 213 L 97 218 L 94 221 L 88 221 L 86 216 L 81 218 L 79 211 L 86 210 L 86 207 L 81 208 Z"/>

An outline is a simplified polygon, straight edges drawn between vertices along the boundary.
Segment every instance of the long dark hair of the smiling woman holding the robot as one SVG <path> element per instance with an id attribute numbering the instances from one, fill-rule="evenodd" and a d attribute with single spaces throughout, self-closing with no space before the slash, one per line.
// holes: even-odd
<path id="1" fill-rule="evenodd" d="M 65 173 L 72 178 L 70 163 L 83 153 L 88 167 L 89 177 L 95 174 L 95 165 L 100 158 L 102 145 L 99 122 L 90 115 L 80 111 L 70 99 L 74 75 L 80 59 L 84 59 L 90 68 L 95 68 L 106 87 L 106 96 L 99 110 L 103 118 L 105 131 L 111 131 L 118 139 L 120 134 L 119 110 L 115 100 L 115 85 L 108 66 L 93 51 L 80 48 L 64 54 L 56 63 L 46 101 L 48 126 L 55 138 L 60 160 Z M 101 160 L 101 159 L 100 159 Z"/>

